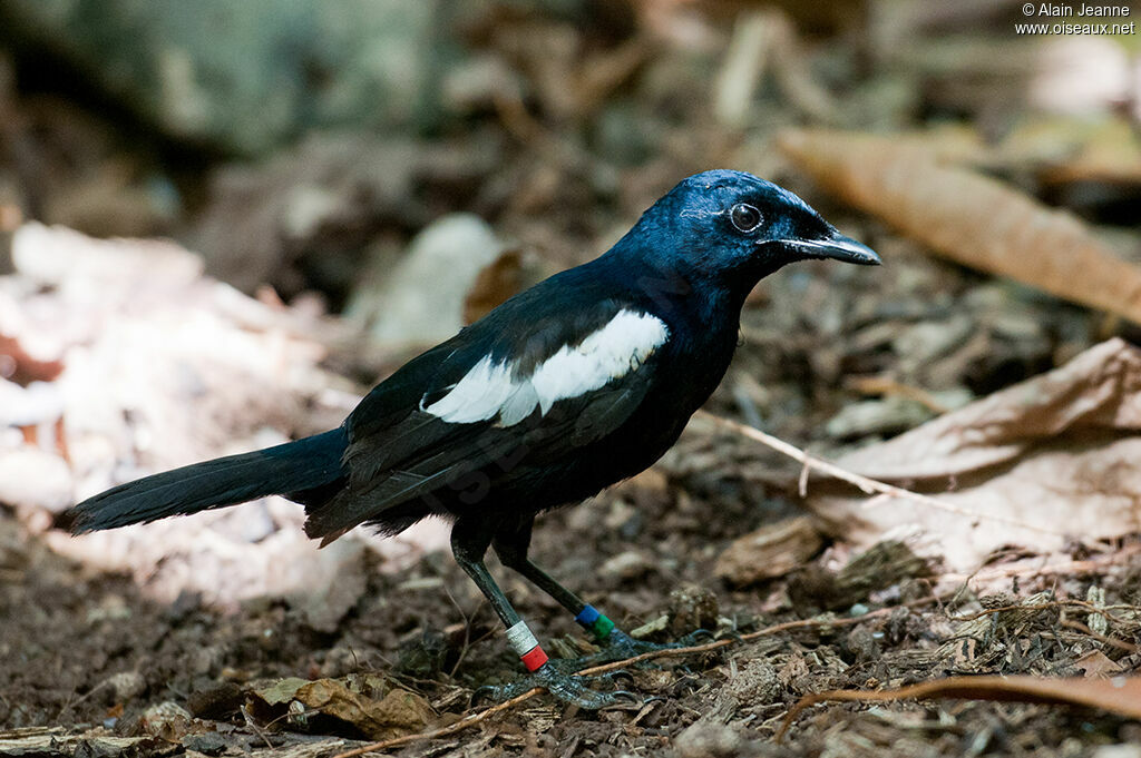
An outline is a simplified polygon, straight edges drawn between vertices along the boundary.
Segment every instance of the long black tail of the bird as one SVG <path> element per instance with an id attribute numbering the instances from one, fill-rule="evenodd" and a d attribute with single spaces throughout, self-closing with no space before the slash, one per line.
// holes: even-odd
<path id="1" fill-rule="evenodd" d="M 342 426 L 127 482 L 74 506 L 71 528 L 79 535 L 323 488 L 342 475 L 347 445 Z"/>

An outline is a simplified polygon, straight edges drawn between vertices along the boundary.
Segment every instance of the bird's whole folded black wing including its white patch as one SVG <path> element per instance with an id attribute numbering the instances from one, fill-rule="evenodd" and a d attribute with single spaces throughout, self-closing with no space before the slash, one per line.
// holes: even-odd
<path id="1" fill-rule="evenodd" d="M 479 321 L 377 386 L 347 422 L 347 484 L 306 530 L 339 535 L 445 487 L 475 487 L 475 472 L 573 456 L 621 426 L 653 385 L 639 369 L 669 328 L 622 299 L 557 305 Z"/>

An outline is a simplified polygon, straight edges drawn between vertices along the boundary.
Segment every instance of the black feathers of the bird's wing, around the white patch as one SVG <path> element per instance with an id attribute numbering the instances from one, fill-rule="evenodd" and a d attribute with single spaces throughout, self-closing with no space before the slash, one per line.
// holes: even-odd
<path id="1" fill-rule="evenodd" d="M 511 360 L 520 372 L 533 370 L 563 345 L 577 344 L 631 307 L 621 293 L 593 292 L 589 282 L 589 292 L 567 303 L 558 296 L 567 283 L 558 279 L 508 301 L 369 393 L 346 422 L 346 486 L 308 508 L 310 536 L 325 536 L 327 541 L 364 522 L 398 531 L 415 521 L 404 507 L 411 502 L 422 500 L 421 515 L 428 515 L 446 510 L 432 510 L 437 495 L 462 499 L 464 474 L 482 471 L 502 480 L 529 464 L 574 455 L 574 447 L 601 439 L 637 410 L 650 386 L 645 367 L 585 397 L 560 400 L 544 417 L 536 411 L 507 429 L 497 427 L 494 418 L 456 424 L 421 410 L 424 398 L 446 392 L 488 354 Z M 589 305 L 578 304 L 583 302 Z M 520 451 L 521 462 L 503 465 Z"/>

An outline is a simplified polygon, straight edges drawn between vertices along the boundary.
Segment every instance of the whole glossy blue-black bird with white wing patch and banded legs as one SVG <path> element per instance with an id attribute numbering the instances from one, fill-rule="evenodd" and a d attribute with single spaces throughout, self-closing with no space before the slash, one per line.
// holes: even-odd
<path id="1" fill-rule="evenodd" d="M 340 427 L 115 487 L 76 505 L 76 533 L 266 495 L 305 505 L 322 545 L 359 524 L 395 535 L 453 521 L 456 562 L 542 684 L 586 708 L 613 701 L 553 662 L 484 565 L 550 594 L 604 645 L 632 641 L 527 555 L 532 523 L 639 473 L 725 375 L 745 296 L 786 263 L 877 264 L 803 201 L 737 171 L 682 180 L 606 254 L 516 295 L 412 359 Z"/>

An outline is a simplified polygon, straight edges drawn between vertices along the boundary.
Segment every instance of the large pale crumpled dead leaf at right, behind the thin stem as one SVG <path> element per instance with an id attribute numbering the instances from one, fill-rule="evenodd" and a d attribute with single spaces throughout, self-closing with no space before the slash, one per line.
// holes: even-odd
<path id="1" fill-rule="evenodd" d="M 1141 529 L 1141 350 L 1110 340 L 1066 366 L 996 392 L 836 464 L 933 496 L 946 508 L 812 482 L 807 505 L 857 547 L 907 538 L 953 570 L 994 549 L 1060 549 L 1067 536 Z"/>

